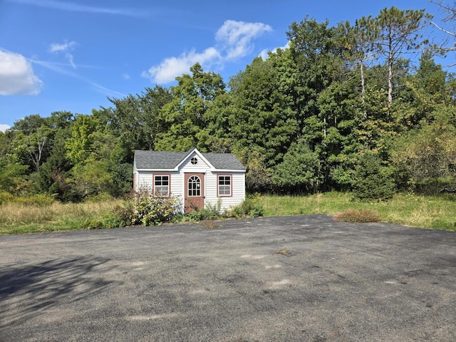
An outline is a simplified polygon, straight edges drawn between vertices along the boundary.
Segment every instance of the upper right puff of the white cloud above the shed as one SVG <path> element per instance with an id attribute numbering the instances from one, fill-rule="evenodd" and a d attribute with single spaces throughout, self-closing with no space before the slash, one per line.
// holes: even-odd
<path id="1" fill-rule="evenodd" d="M 252 40 L 264 32 L 272 31 L 271 26 L 262 23 L 227 20 L 215 35 L 227 51 L 227 61 L 247 56 L 252 52 Z"/>

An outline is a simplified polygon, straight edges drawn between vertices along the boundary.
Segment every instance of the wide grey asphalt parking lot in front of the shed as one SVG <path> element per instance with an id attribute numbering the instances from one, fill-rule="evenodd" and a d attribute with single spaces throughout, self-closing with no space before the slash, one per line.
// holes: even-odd
<path id="1" fill-rule="evenodd" d="M 456 341 L 456 233 L 325 215 L 0 236 L 0 341 Z"/>

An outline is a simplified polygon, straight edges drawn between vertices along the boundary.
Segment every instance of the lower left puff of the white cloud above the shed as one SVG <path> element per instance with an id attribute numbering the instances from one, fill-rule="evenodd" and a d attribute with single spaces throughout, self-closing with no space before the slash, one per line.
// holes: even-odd
<path id="1" fill-rule="evenodd" d="M 150 78 L 155 83 L 169 83 L 182 73 L 187 73 L 190 66 L 195 63 L 214 63 L 219 58 L 220 53 L 216 48 L 207 48 L 202 53 L 190 51 L 190 53 L 182 53 L 179 57 L 166 58 L 160 65 L 152 66 L 148 71 L 142 73 L 142 76 Z"/>

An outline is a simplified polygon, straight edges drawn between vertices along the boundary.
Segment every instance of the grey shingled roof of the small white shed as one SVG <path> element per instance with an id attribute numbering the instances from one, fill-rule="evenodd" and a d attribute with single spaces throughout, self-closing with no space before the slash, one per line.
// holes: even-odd
<path id="1" fill-rule="evenodd" d="M 140 170 L 171 170 L 195 151 L 216 169 L 245 171 L 244 165 L 232 153 L 201 153 L 196 149 L 187 152 L 135 150 L 136 168 Z"/>

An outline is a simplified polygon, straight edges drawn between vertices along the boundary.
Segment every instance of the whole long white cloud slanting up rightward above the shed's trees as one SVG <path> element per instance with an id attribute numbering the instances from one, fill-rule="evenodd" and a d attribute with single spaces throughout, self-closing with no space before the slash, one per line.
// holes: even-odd
<path id="1" fill-rule="evenodd" d="M 252 53 L 252 41 L 268 31 L 272 28 L 266 24 L 227 20 L 215 35 L 216 46 L 206 48 L 202 53 L 192 50 L 178 57 L 165 58 L 159 65 L 144 71 L 142 76 L 150 78 L 153 83 L 170 83 L 195 63 L 205 67 L 214 63 L 223 65 Z"/>

